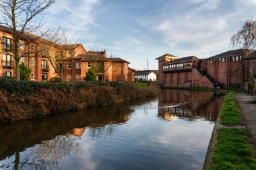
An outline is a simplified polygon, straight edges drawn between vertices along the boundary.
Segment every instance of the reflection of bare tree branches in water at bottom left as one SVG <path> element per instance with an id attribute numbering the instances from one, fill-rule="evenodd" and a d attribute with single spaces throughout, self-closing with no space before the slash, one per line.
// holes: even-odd
<path id="1" fill-rule="evenodd" d="M 82 154 L 82 149 L 75 138 L 71 136 L 57 136 L 53 140 L 46 140 L 34 146 L 25 155 L 15 153 L 15 161 L 1 167 L 9 169 L 60 169 L 65 159 L 71 155 Z M 14 164 L 14 165 L 13 165 Z"/>

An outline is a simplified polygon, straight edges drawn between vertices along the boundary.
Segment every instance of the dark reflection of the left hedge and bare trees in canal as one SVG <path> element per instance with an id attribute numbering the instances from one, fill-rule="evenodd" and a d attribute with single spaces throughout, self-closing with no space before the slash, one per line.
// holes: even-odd
<path id="1" fill-rule="evenodd" d="M 83 112 L 49 116 L 42 120 L 24 120 L 0 126 L 0 160 L 4 169 L 53 169 L 61 167 L 65 157 L 81 154 L 77 138 L 85 130 L 92 140 L 106 139 L 115 132 L 115 124 L 129 120 L 127 105 L 97 108 Z M 73 137 L 72 137 L 73 136 Z M 74 138 L 76 137 L 76 138 Z M 32 148 L 31 148 L 32 147 Z M 29 151 L 26 151 L 29 148 Z M 26 151 L 26 154 L 20 153 Z"/>

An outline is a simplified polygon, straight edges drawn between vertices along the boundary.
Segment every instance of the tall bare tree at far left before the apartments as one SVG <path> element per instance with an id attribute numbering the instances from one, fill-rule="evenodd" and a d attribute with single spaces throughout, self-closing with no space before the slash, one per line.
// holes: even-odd
<path id="1" fill-rule="evenodd" d="M 35 24 L 33 19 L 42 11 L 49 8 L 55 0 L 0 0 L 0 24 L 12 30 L 11 42 L 3 42 L 10 46 L 11 53 L 15 60 L 16 77 L 20 80 L 20 38 L 24 32 L 38 32 L 42 22 Z M 42 21 L 42 19 L 41 19 Z"/>

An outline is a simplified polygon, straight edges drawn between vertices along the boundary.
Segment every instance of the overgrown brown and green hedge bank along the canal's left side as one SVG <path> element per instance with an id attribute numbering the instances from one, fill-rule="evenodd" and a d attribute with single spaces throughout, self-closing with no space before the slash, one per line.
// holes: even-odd
<path id="1" fill-rule="evenodd" d="M 38 83 L 0 79 L 0 122 L 41 118 L 84 108 L 154 97 L 158 87 L 133 83 Z"/>

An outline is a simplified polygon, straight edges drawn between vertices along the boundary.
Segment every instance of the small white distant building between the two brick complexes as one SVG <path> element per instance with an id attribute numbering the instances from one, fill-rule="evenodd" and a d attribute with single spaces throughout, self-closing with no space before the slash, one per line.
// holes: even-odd
<path id="1" fill-rule="evenodd" d="M 156 81 L 158 70 L 135 71 L 136 81 Z"/>

